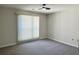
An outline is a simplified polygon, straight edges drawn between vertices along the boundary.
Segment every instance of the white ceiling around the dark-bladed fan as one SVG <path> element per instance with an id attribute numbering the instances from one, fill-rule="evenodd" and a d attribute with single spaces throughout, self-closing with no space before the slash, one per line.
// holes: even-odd
<path id="1" fill-rule="evenodd" d="M 73 5 L 58 5 L 58 4 L 47 4 L 47 7 L 50 7 L 51 10 L 39 10 L 42 7 L 42 4 L 2 4 L 0 6 L 6 6 L 11 8 L 23 9 L 27 11 L 40 12 L 40 13 L 53 13 L 57 11 L 64 10 L 65 8 Z M 34 10 L 33 10 L 34 9 Z"/>

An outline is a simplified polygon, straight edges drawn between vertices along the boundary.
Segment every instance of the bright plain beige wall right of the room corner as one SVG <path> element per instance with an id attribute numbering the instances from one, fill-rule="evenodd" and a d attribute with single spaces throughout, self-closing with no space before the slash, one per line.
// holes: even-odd
<path id="1" fill-rule="evenodd" d="M 72 7 L 48 15 L 48 38 L 77 47 L 79 39 L 78 8 Z"/>

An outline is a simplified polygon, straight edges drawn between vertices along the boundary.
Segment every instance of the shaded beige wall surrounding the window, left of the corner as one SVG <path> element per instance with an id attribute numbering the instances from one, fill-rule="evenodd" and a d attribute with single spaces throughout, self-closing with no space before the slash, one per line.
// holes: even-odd
<path id="1" fill-rule="evenodd" d="M 0 7 L 0 47 L 16 43 L 17 11 L 23 12 L 22 10 Z M 40 16 L 40 38 L 45 38 L 47 33 L 46 15 L 31 12 L 25 13 Z"/>

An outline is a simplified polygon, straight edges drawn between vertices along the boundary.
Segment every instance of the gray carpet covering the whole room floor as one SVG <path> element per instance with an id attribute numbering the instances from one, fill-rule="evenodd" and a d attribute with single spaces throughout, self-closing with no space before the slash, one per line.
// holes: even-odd
<path id="1" fill-rule="evenodd" d="M 49 39 L 0 49 L 0 55 L 78 55 L 78 49 Z"/>

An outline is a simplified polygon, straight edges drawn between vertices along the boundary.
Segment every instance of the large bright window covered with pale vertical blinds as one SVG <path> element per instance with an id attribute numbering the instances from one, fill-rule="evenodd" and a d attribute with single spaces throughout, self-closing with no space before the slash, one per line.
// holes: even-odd
<path id="1" fill-rule="evenodd" d="M 18 15 L 18 40 L 39 38 L 39 16 Z"/>

